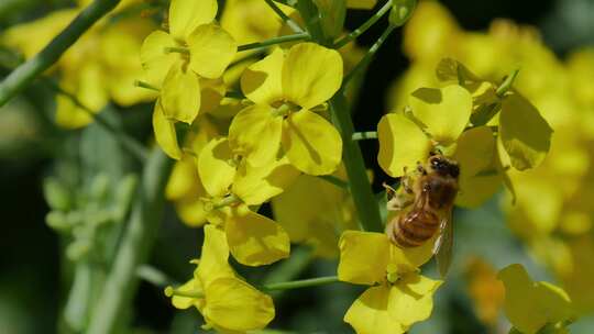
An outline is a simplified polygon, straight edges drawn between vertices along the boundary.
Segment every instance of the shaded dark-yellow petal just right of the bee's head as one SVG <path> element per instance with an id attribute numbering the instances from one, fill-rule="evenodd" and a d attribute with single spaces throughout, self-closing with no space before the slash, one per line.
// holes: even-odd
<path id="1" fill-rule="evenodd" d="M 488 200 L 502 186 L 497 170 L 496 143 L 488 126 L 465 131 L 458 138 L 454 159 L 460 165 L 460 191 L 455 203 L 475 208 Z"/>

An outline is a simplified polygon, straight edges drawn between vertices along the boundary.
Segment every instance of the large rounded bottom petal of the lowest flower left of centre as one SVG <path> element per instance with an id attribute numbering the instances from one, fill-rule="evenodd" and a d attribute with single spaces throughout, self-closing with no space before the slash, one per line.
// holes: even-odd
<path id="1" fill-rule="evenodd" d="M 238 278 L 229 277 L 207 287 L 202 314 L 208 323 L 229 333 L 264 329 L 274 319 L 275 312 L 270 296 Z"/>

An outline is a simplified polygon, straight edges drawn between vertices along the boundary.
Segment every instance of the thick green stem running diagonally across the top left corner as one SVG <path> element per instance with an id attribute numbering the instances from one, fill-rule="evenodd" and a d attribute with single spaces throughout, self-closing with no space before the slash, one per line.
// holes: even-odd
<path id="1" fill-rule="evenodd" d="M 19 66 L 0 84 L 0 107 L 4 105 L 33 79 L 56 63 L 95 22 L 111 11 L 120 0 L 95 0 L 84 9 L 44 49 Z"/>

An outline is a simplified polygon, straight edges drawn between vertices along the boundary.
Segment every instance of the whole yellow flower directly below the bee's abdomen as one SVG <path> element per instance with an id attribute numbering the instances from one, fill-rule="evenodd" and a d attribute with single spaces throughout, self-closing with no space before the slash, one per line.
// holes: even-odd
<path id="1" fill-rule="evenodd" d="M 344 315 L 358 334 L 406 333 L 429 318 L 441 281 L 419 275 L 418 267 L 432 256 L 432 243 L 403 249 L 385 234 L 346 231 L 339 245 L 339 279 L 372 286 Z"/>

